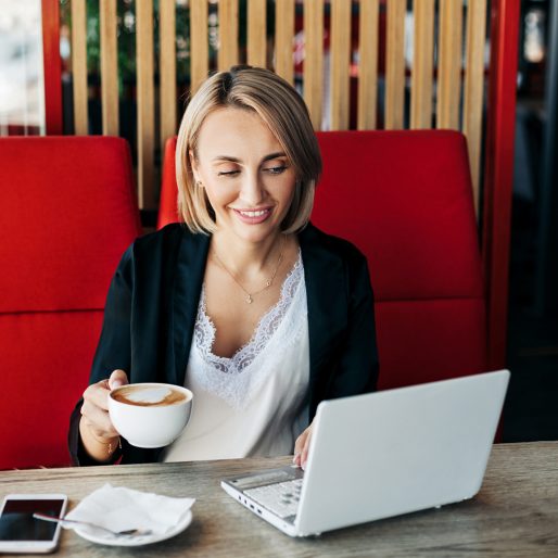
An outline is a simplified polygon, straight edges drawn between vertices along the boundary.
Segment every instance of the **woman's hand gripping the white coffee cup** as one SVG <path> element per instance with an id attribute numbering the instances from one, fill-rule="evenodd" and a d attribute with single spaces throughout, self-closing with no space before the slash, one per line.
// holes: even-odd
<path id="1" fill-rule="evenodd" d="M 109 392 L 128 383 L 124 370 L 114 370 L 109 380 L 93 383 L 84 392 L 79 433 L 87 453 L 106 461 L 118 447 L 119 435 L 109 417 Z"/>

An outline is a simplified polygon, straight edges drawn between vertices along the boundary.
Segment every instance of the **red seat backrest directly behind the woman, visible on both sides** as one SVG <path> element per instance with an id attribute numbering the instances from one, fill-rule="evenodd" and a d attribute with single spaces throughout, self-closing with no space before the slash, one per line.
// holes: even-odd
<path id="1" fill-rule="evenodd" d="M 485 371 L 485 302 L 465 137 L 448 130 L 317 137 L 324 175 L 312 220 L 368 258 L 379 388 Z M 175 149 L 172 138 L 160 226 L 177 220 Z"/>

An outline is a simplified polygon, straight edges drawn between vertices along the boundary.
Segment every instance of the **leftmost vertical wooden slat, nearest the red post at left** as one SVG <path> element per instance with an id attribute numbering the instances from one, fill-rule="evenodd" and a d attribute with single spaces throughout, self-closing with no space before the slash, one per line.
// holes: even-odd
<path id="1" fill-rule="evenodd" d="M 86 136 L 87 107 L 87 12 L 86 0 L 72 0 L 72 86 L 74 134 Z"/>

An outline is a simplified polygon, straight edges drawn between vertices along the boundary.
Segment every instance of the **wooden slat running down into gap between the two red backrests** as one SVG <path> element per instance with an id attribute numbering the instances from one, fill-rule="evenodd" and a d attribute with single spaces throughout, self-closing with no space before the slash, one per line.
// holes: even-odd
<path id="1" fill-rule="evenodd" d="M 136 2 L 138 98 L 138 194 L 141 208 L 156 207 L 153 150 L 155 145 L 153 0 Z"/>

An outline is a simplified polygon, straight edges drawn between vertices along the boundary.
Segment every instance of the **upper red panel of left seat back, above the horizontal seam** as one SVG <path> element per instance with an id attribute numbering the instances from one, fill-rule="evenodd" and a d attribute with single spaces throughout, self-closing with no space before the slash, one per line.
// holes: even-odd
<path id="1" fill-rule="evenodd" d="M 139 230 L 127 143 L 0 141 L 2 234 L 10 239 L 0 244 L 0 312 L 103 307 L 99 287 Z"/>

